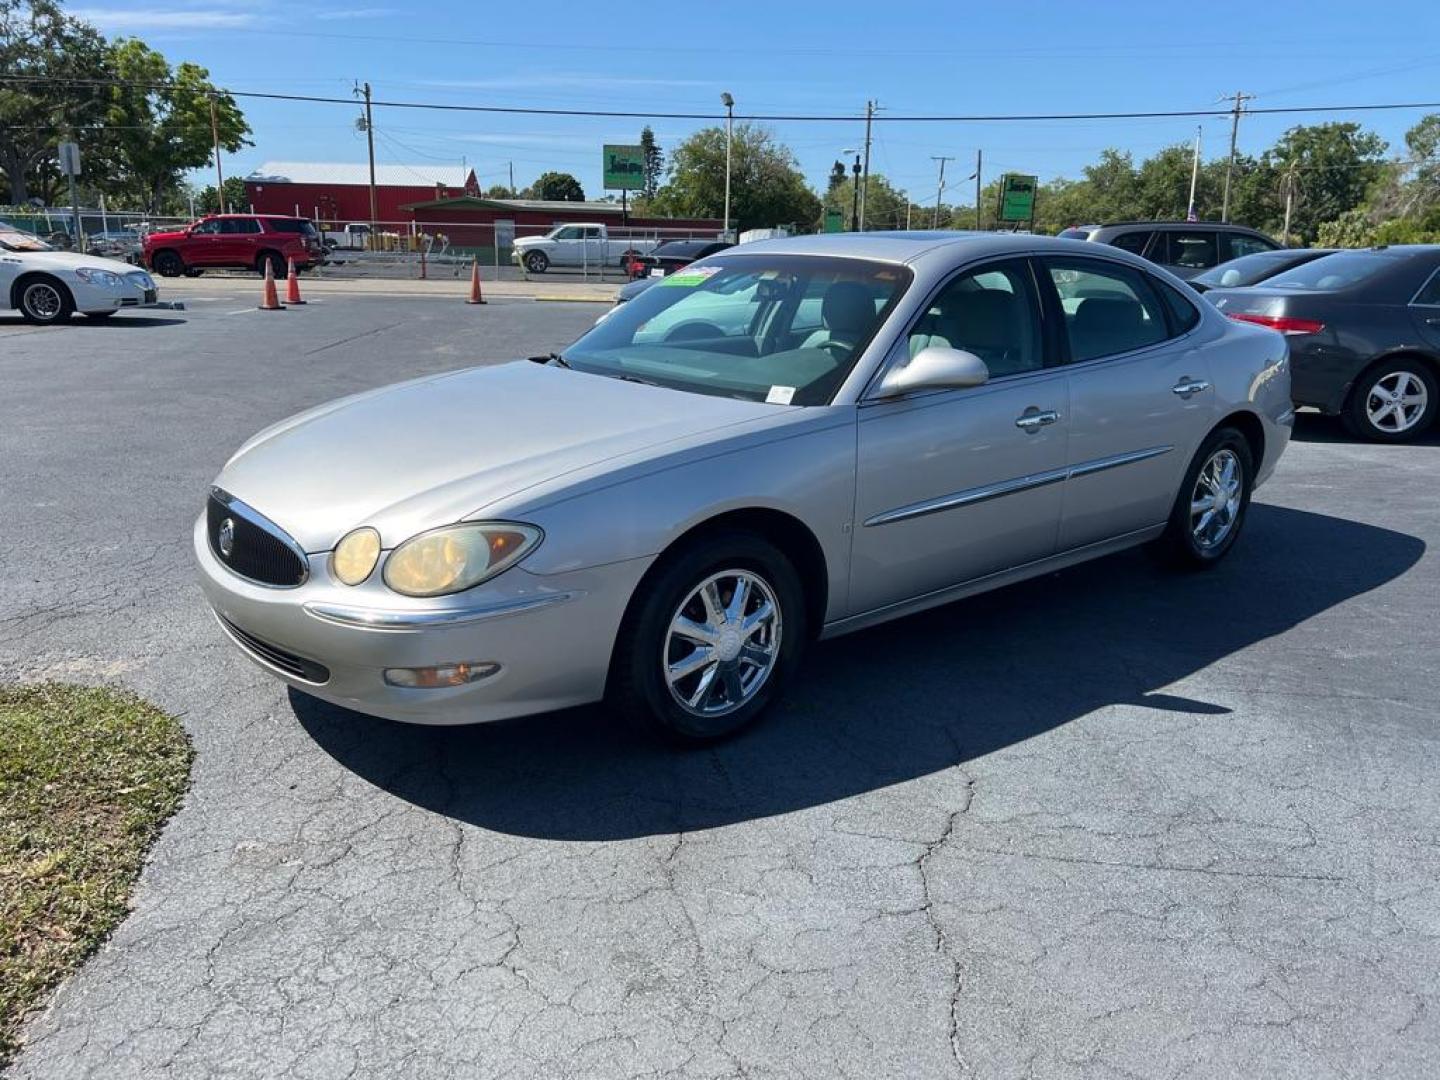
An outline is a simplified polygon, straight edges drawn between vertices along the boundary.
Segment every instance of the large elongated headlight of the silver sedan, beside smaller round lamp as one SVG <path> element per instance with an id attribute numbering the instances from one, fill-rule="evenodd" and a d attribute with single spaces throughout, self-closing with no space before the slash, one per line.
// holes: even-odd
<path id="1" fill-rule="evenodd" d="M 384 583 L 405 596 L 444 596 L 472 589 L 514 566 L 540 543 L 534 526 L 465 521 L 406 540 L 384 563 Z"/>

